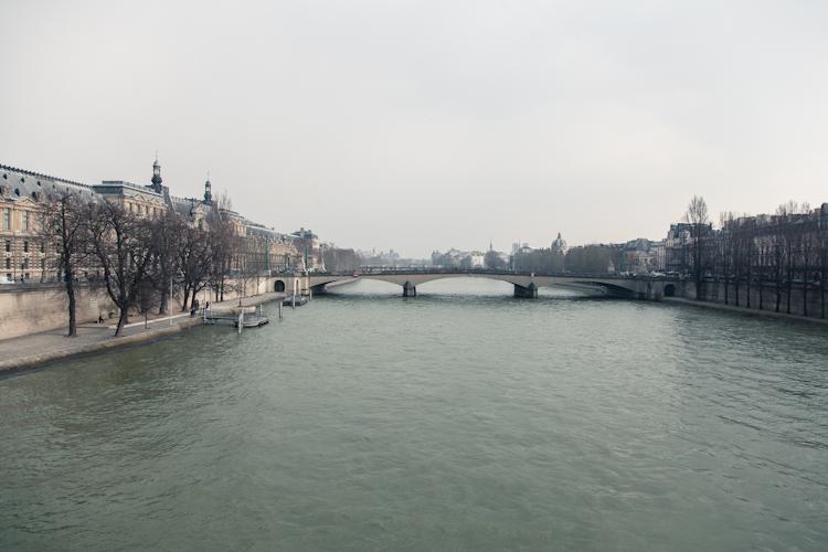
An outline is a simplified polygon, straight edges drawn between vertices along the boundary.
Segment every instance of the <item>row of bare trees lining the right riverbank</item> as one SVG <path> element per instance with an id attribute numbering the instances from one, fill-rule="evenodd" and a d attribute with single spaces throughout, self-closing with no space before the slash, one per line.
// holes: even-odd
<path id="1" fill-rule="evenodd" d="M 719 230 L 713 231 L 704 200 L 694 197 L 688 205 L 684 223 L 690 238 L 668 252 L 681 256 L 686 273 L 696 285 L 697 299 L 715 275 L 724 283 L 724 302 L 740 306 L 742 290 L 745 306 L 753 307 L 752 290 L 764 309 L 764 295 L 773 289 L 773 309 L 792 311 L 794 289 L 800 291 L 802 312 L 808 316 L 810 293 L 820 296 L 820 317 L 825 318 L 826 273 L 828 273 L 828 219 L 813 211 L 808 203 L 788 201 L 769 216 L 721 213 Z"/>

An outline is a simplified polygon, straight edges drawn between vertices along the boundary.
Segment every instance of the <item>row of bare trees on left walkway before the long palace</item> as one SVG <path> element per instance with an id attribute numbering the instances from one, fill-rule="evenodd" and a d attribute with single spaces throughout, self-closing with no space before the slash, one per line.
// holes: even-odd
<path id="1" fill-rule="evenodd" d="M 163 314 L 172 307 L 172 293 L 182 297 L 182 311 L 206 286 L 223 299 L 240 240 L 222 220 L 227 210 L 230 200 L 223 195 L 206 224 L 194 227 L 171 209 L 142 217 L 116 203 L 83 201 L 77 193 L 57 197 L 47 208 L 44 230 L 68 297 L 68 335 L 77 335 L 81 275 L 100 285 L 119 309 L 116 336 L 130 308 L 146 315 L 158 307 Z"/>

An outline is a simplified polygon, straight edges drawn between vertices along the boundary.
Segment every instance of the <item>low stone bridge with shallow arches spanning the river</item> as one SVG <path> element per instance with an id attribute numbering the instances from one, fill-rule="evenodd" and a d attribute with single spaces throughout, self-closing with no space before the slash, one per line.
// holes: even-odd
<path id="1" fill-rule="evenodd" d="M 416 297 L 417 286 L 443 278 L 490 278 L 508 282 L 514 286 L 516 297 L 537 298 L 538 288 L 559 284 L 595 286 L 604 293 L 633 298 L 658 300 L 661 297 L 683 296 L 679 278 L 655 276 L 616 276 L 612 274 L 569 273 L 518 273 L 511 270 L 381 270 L 367 273 L 310 273 L 272 275 L 273 290 L 288 295 L 321 294 L 328 286 L 339 286 L 359 279 L 375 279 L 396 284 L 403 288 L 403 297 Z"/>

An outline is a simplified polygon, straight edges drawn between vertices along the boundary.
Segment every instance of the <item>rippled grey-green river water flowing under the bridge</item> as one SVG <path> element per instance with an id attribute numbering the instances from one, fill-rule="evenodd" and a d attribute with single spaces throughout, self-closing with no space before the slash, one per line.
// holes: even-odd
<path id="1" fill-rule="evenodd" d="M 457 278 L 0 380 L 0 550 L 828 549 L 828 332 Z"/>

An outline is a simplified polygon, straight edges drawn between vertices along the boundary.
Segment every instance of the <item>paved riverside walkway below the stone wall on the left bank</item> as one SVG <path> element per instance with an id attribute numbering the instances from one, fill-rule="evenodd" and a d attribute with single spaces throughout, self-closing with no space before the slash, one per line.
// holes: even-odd
<path id="1" fill-rule="evenodd" d="M 242 306 L 255 307 L 265 302 L 283 299 L 285 294 L 263 294 L 243 297 Z M 238 306 L 238 298 L 211 305 L 213 312 L 227 311 Z M 67 327 L 0 340 L 0 376 L 24 370 L 67 362 L 92 355 L 97 351 L 131 347 L 142 341 L 162 339 L 181 333 L 188 328 L 200 326 L 200 316 L 191 317 L 189 312 L 173 314 L 172 323 L 169 315 L 149 315 L 147 328 L 142 315 L 130 316 L 120 337 L 115 337 L 117 320 L 104 323 L 77 325 L 77 337 L 66 337 Z"/>

